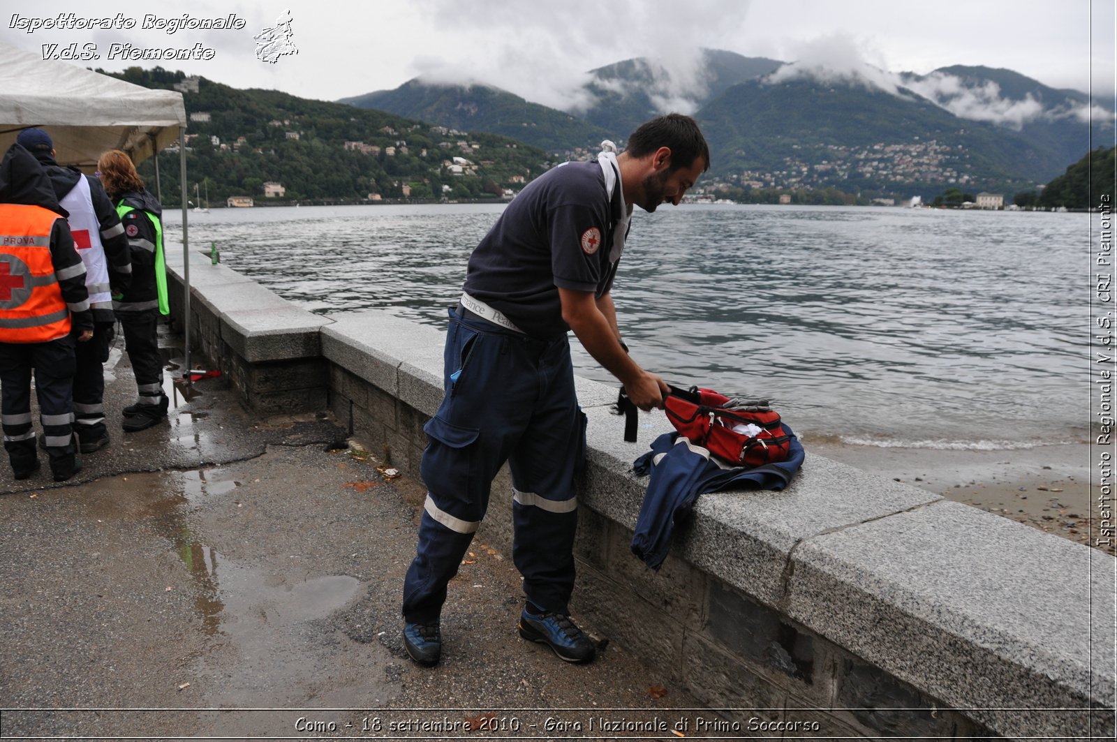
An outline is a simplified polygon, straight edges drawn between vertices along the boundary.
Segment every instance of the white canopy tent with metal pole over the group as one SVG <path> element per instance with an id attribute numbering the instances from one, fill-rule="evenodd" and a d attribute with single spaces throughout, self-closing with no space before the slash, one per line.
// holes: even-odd
<path id="1" fill-rule="evenodd" d="M 140 163 L 182 140 L 182 94 L 153 91 L 67 61 L 0 44 L 0 153 L 19 132 L 38 126 L 50 134 L 59 164 L 92 173 L 106 150 L 123 150 Z M 185 284 L 185 369 L 190 379 L 190 260 L 187 241 L 187 160 L 179 148 L 182 181 L 182 250 Z M 156 178 L 159 160 L 155 160 Z"/>

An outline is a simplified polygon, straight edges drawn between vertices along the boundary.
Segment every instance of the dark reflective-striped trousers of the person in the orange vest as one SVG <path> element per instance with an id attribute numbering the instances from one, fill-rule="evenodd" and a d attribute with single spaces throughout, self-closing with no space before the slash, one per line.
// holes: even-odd
<path id="1" fill-rule="evenodd" d="M 15 470 L 35 463 L 31 425 L 31 373 L 39 398 L 39 421 L 51 469 L 73 466 L 74 369 L 76 342 L 71 335 L 46 343 L 0 343 L 0 418 L 3 447 Z"/>

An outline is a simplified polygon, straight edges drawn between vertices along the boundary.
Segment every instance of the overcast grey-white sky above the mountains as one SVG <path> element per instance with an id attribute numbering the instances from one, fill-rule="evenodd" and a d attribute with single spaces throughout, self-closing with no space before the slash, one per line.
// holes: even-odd
<path id="1" fill-rule="evenodd" d="M 10 6 L 9 6 L 10 7 Z M 97 10 L 90 10 L 96 7 Z M 131 9 L 130 9 L 131 8 Z M 257 58 L 254 36 L 289 10 L 296 55 Z M 586 70 L 632 57 L 655 57 L 685 95 L 694 50 L 726 49 L 815 66 L 868 65 L 886 73 L 929 73 L 947 65 L 1006 67 L 1057 88 L 1114 98 L 1113 0 L 370 0 L 367 2 L 21 3 L 3 11 L 3 40 L 41 51 L 44 44 L 97 46 L 109 70 L 156 63 L 108 58 L 111 44 L 135 48 L 213 50 L 199 61 L 164 61 L 235 87 L 277 88 L 337 99 L 394 88 L 423 75 L 440 82 L 485 82 L 528 99 L 567 107 Z M 39 29 L 27 19 L 121 13 L 126 30 Z M 175 34 L 143 29 L 144 16 L 181 19 L 235 13 L 240 30 Z M 697 84 L 697 83 L 694 83 Z"/>

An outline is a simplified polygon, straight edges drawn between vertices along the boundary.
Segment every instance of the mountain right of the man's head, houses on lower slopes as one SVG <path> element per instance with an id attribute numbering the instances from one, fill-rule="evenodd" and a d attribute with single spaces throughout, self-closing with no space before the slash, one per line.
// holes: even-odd
<path id="1" fill-rule="evenodd" d="M 765 185 L 929 192 L 1025 185 L 1065 165 L 1014 132 L 964 121 L 914 93 L 857 83 L 750 82 L 696 115 L 712 170 Z"/>

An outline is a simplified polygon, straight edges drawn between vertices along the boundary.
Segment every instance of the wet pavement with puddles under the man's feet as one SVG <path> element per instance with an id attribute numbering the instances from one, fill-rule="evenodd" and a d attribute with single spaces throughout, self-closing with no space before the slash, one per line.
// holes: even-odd
<path id="1" fill-rule="evenodd" d="M 421 486 L 325 416 L 255 418 L 220 378 L 169 379 L 169 420 L 125 435 L 122 348 L 109 447 L 63 484 L 0 467 L 0 738 L 599 739 L 594 720 L 698 705 L 615 644 L 574 666 L 519 639 L 518 574 L 479 541 L 442 663 L 413 665 L 399 600 Z"/>

